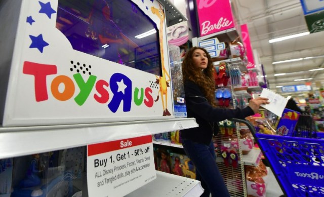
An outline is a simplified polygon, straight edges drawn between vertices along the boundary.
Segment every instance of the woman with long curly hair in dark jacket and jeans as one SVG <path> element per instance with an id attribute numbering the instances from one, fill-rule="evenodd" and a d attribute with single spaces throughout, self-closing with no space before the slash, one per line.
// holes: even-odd
<path id="1" fill-rule="evenodd" d="M 187 116 L 194 117 L 196 128 L 181 131 L 182 145 L 196 167 L 196 179 L 205 189 L 201 196 L 230 196 L 216 165 L 216 154 L 212 142 L 218 133 L 217 123 L 233 117 L 244 119 L 256 113 L 266 98 L 256 98 L 249 106 L 240 109 L 217 108 L 213 61 L 204 48 L 191 48 L 182 62 Z"/>

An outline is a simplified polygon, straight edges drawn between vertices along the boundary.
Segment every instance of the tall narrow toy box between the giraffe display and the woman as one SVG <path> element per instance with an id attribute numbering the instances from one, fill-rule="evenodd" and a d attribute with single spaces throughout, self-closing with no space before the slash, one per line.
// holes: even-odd
<path id="1" fill-rule="evenodd" d="M 180 48 L 169 44 L 170 69 L 172 78 L 173 107 L 175 117 L 187 117 L 187 107 L 182 78 Z"/>

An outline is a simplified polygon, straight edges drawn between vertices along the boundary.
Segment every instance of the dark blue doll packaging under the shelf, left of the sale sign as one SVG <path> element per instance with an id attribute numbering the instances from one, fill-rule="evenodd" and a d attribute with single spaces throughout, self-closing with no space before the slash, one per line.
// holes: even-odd
<path id="1" fill-rule="evenodd" d="M 85 147 L 15 157 L 12 197 L 64 196 L 80 191 Z M 77 184 L 77 183 L 80 184 Z"/>

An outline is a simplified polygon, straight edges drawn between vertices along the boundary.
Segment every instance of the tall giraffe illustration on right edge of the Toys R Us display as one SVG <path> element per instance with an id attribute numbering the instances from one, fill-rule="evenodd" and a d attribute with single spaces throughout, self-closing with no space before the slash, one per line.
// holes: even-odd
<path id="1" fill-rule="evenodd" d="M 168 73 L 168 71 L 166 70 L 165 66 L 164 66 L 164 53 L 163 53 L 163 26 L 164 26 L 164 19 L 165 19 L 165 15 L 164 15 L 164 11 L 161 8 L 161 6 L 159 5 L 159 8 L 154 8 L 151 7 L 151 11 L 153 14 L 155 14 L 159 19 L 160 19 L 160 26 L 159 26 L 159 42 L 160 42 L 160 59 L 161 59 L 161 66 L 162 66 L 162 75 L 161 76 L 157 76 L 156 77 L 156 84 L 159 85 L 159 94 L 161 95 L 161 100 L 162 100 L 162 105 L 163 105 L 163 115 L 171 115 L 171 113 L 168 111 L 167 106 L 168 106 L 168 87 L 169 86 L 169 82 L 170 82 L 170 75 Z M 168 76 L 168 80 L 166 78 L 166 76 Z M 165 96 L 165 100 L 164 97 Z M 155 102 L 158 100 L 158 95 L 157 98 L 155 100 Z"/>

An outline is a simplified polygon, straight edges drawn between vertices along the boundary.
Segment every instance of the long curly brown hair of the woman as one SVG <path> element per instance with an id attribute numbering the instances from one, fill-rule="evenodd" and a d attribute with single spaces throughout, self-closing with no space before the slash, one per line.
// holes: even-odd
<path id="1" fill-rule="evenodd" d="M 208 59 L 208 65 L 207 68 L 201 71 L 200 69 L 197 69 L 197 67 L 194 65 L 192 57 L 193 53 L 196 49 L 203 50 Z M 216 100 L 215 100 L 215 81 L 214 81 L 214 65 L 213 60 L 209 53 L 204 48 L 200 47 L 192 47 L 187 53 L 186 56 L 182 62 L 182 73 L 183 73 L 183 80 L 187 81 L 190 80 L 194 83 L 196 83 L 203 94 L 206 96 L 208 102 L 216 107 Z"/>

